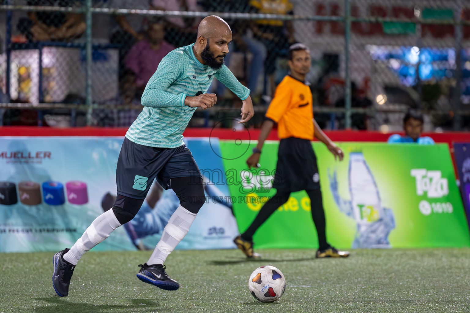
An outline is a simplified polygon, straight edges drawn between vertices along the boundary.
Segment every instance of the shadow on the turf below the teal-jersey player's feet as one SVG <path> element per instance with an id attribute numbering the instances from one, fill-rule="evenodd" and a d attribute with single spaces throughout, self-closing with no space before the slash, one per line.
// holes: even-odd
<path id="1" fill-rule="evenodd" d="M 69 302 L 64 298 L 50 297 L 50 298 L 35 298 L 35 300 L 45 301 L 54 305 L 38 307 L 34 309 L 35 313 L 53 313 L 53 312 L 64 312 L 64 313 L 100 313 L 110 312 L 114 310 L 129 310 L 129 309 L 141 309 L 139 312 L 155 311 L 156 307 L 160 305 L 155 300 L 149 299 L 131 299 L 130 305 L 95 305 L 92 303 L 77 303 Z M 171 311 L 171 307 L 159 307 L 159 311 Z"/>

